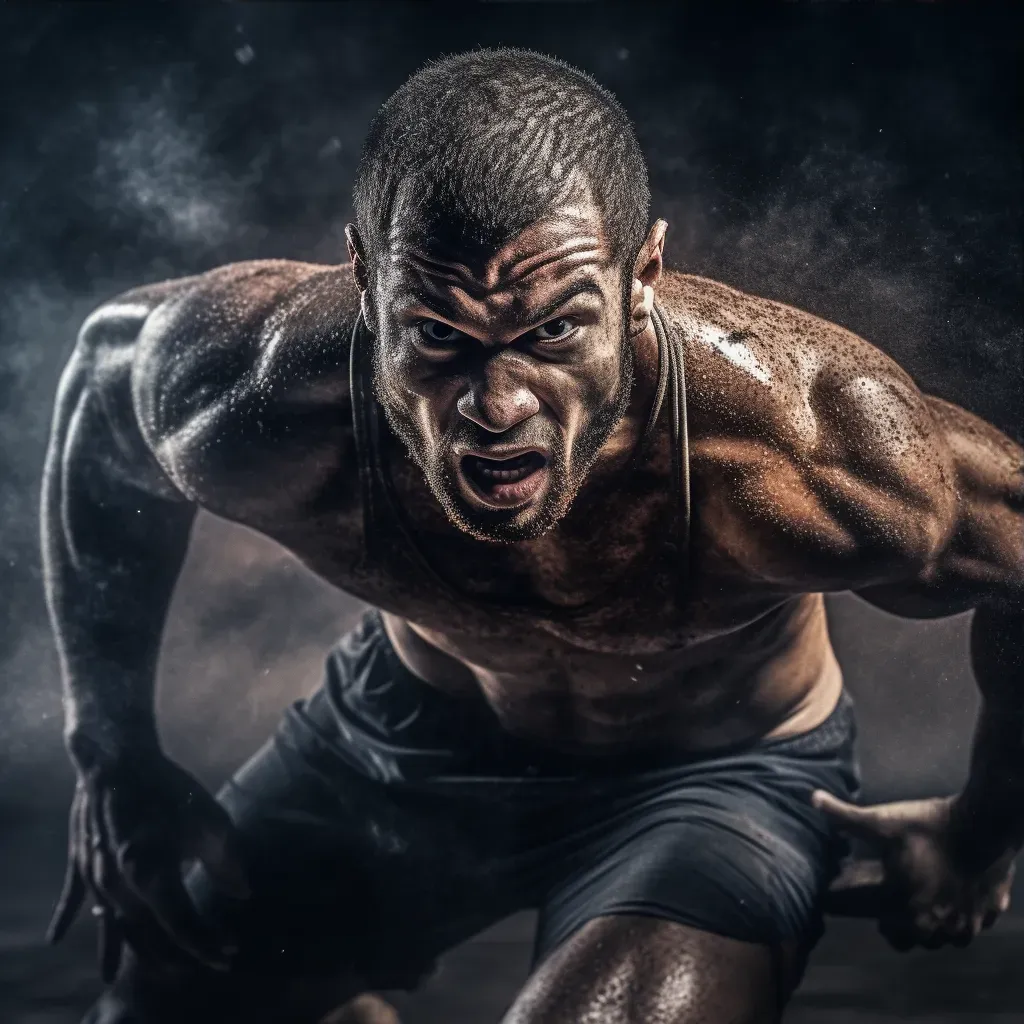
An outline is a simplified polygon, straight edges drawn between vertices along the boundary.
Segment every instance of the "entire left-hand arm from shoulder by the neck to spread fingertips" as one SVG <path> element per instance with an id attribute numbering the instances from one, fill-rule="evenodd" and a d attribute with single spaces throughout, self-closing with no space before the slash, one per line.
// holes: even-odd
<path id="1" fill-rule="evenodd" d="M 51 936 L 91 895 L 106 977 L 122 933 L 147 955 L 225 963 L 181 864 L 240 895 L 240 851 L 223 808 L 160 749 L 157 659 L 197 506 L 272 521 L 337 475 L 344 359 L 317 301 L 332 274 L 238 264 L 129 293 L 89 317 L 61 378 L 42 543 L 78 784 Z"/>

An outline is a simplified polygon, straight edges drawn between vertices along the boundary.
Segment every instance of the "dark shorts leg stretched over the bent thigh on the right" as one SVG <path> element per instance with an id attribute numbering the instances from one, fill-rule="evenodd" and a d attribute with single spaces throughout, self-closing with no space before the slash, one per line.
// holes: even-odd
<path id="1" fill-rule="evenodd" d="M 786 993 L 843 852 L 798 767 L 732 759 L 635 780 L 548 890 L 535 962 L 594 919 L 640 915 L 770 950 Z"/>

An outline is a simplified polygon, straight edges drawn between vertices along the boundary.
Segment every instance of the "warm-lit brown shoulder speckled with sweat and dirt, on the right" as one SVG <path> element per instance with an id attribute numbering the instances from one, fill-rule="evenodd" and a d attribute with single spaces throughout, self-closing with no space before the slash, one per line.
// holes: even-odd
<path id="1" fill-rule="evenodd" d="M 686 339 L 694 456 L 715 479 L 734 467 L 733 504 L 755 525 L 774 521 L 775 537 L 831 566 L 837 583 L 941 549 L 955 522 L 951 450 L 902 368 L 784 303 L 685 274 L 668 286 L 666 311 Z"/>

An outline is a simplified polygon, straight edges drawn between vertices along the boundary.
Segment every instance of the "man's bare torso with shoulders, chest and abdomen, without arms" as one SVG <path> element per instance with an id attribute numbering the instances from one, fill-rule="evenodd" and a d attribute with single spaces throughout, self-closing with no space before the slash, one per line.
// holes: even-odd
<path id="1" fill-rule="evenodd" d="M 190 301 L 175 296 L 189 291 Z M 389 434 L 385 459 L 410 525 L 466 595 L 458 603 L 400 561 L 364 557 L 347 396 L 358 306 L 347 267 L 241 264 L 142 289 L 100 309 L 86 336 L 112 365 L 117 400 L 132 364 L 123 349 L 105 349 L 104 335 L 132 337 L 158 301 L 182 318 L 193 303 L 229 302 L 233 337 L 217 321 L 207 344 L 194 336 L 186 350 L 143 337 L 147 372 L 169 381 L 144 397 L 170 421 L 161 425 L 170 436 L 152 445 L 164 469 L 181 494 L 384 609 L 417 675 L 479 693 L 510 730 L 595 752 L 652 740 L 700 750 L 803 731 L 828 714 L 841 687 L 821 593 L 905 578 L 948 541 L 957 467 L 947 434 L 962 459 L 988 463 L 1008 483 L 1016 450 L 970 414 L 922 395 L 848 331 L 681 273 L 669 272 L 659 295 L 685 339 L 688 579 L 676 579 L 665 550 L 666 423 L 628 486 L 585 486 L 553 530 L 514 547 L 453 525 Z M 322 317 L 318 339 L 323 324 L 337 339 L 329 360 L 323 342 L 303 337 L 310 306 Z M 227 365 L 232 376 L 218 378 Z M 218 379 L 222 390 L 198 404 L 199 389 Z M 134 386 L 137 394 L 146 382 L 136 376 Z M 175 408 L 186 396 L 188 418 Z M 237 435 L 224 438 L 228 412 Z M 213 429 L 221 436 L 211 441 Z M 536 607 L 503 608 L 502 595 Z M 964 606 L 972 596 L 962 595 Z"/>

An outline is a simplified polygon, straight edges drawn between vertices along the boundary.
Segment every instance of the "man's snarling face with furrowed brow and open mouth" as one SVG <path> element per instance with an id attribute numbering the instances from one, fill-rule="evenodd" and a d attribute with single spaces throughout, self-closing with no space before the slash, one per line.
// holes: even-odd
<path id="1" fill-rule="evenodd" d="M 461 529 L 528 540 L 568 510 L 629 403 L 622 273 L 585 201 L 472 264 L 392 240 L 371 285 L 377 396 Z"/>

